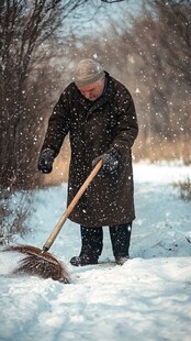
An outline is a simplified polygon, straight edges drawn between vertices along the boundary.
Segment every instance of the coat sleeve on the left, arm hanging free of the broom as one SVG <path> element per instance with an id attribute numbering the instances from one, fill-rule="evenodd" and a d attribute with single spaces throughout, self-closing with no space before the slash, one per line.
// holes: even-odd
<path id="1" fill-rule="evenodd" d="M 53 109 L 53 113 L 48 120 L 43 148 L 49 147 L 55 151 L 57 156 L 65 136 L 70 130 L 70 108 L 67 90 L 65 90 Z"/>

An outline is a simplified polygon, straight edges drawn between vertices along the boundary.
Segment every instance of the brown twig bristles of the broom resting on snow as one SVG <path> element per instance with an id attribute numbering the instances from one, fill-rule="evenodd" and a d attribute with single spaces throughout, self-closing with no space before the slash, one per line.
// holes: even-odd
<path id="1" fill-rule="evenodd" d="M 58 262 L 49 252 L 31 245 L 8 246 L 4 251 L 27 254 L 26 257 L 19 262 L 19 266 L 13 271 L 14 275 L 40 276 L 69 284 L 67 267 L 61 262 Z"/>

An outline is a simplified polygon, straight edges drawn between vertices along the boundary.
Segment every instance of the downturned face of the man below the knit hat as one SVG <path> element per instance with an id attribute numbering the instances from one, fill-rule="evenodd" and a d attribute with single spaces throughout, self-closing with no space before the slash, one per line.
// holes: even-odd
<path id="1" fill-rule="evenodd" d="M 88 84 L 85 86 L 78 86 L 79 91 L 83 97 L 87 99 L 94 101 L 97 98 L 99 98 L 104 88 L 104 82 L 105 82 L 105 76 L 102 77 L 100 80 L 94 81 L 92 84 Z"/>

